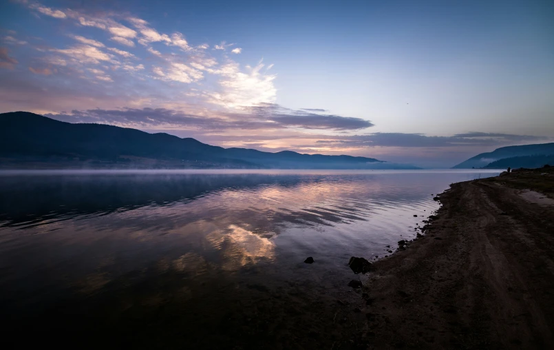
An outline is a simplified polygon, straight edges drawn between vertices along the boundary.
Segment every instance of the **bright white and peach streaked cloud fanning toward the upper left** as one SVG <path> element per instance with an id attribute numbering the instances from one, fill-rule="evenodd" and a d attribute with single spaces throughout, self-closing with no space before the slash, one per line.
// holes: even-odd
<path id="1" fill-rule="evenodd" d="M 34 4 L 34 9 L 43 8 L 39 3 Z M 50 9 L 50 11 L 54 13 L 58 10 Z M 116 12 L 94 12 L 91 14 L 71 9 L 65 9 L 61 12 L 65 14 L 67 19 L 74 21 L 76 25 L 105 30 L 110 34 L 112 41 L 121 45 L 134 47 L 134 41 L 136 40 L 141 45 L 144 45 L 150 54 L 157 56 L 159 60 L 156 61 L 156 66 L 147 67 L 153 74 L 151 76 L 137 76 L 138 79 L 153 78 L 168 83 L 191 84 L 204 80 L 205 76 L 210 74 L 214 76 L 214 79 L 210 79 L 206 83 L 204 91 L 194 93 L 183 92 L 183 94 L 189 97 L 194 96 L 197 100 L 202 99 L 204 103 L 227 108 L 275 102 L 277 90 L 273 81 L 276 75 L 267 74 L 267 68 L 262 71 L 262 68 L 265 68 L 265 66 L 261 61 L 253 67 L 246 65 L 246 68 L 242 68 L 239 63 L 231 60 L 228 56 L 224 56 L 224 62 L 220 64 L 206 52 L 209 45 L 191 45 L 182 33 L 173 32 L 172 34 L 165 34 L 159 32 L 156 28 L 152 28 L 147 21 L 137 17 L 129 17 L 128 15 Z M 132 28 L 120 23 L 120 19 L 130 23 Z M 67 74 L 78 76 L 80 70 L 87 68 L 86 65 L 97 65 L 100 63 L 111 63 L 113 65 L 111 70 L 118 70 L 124 66 L 124 64 L 118 62 L 118 58 L 142 58 L 138 53 L 131 54 L 131 52 L 118 48 L 107 48 L 105 43 L 98 41 L 96 37 L 92 39 L 91 37 L 83 37 L 76 34 L 70 34 L 70 37 L 78 41 L 80 45 L 49 50 L 50 52 L 57 52 L 58 54 L 68 56 L 67 59 L 43 57 L 43 61 L 56 60 L 60 63 L 57 65 L 67 67 L 67 70 L 61 72 L 61 76 L 67 77 Z M 162 54 L 162 52 L 149 45 L 156 42 L 167 45 L 167 52 L 164 51 L 164 54 Z M 219 45 L 215 45 L 214 49 L 226 50 L 226 48 L 230 48 L 233 45 L 235 44 L 222 41 Z M 179 48 L 185 54 L 175 53 L 171 50 L 173 47 Z M 231 50 L 231 53 L 234 54 L 240 52 L 242 52 L 241 48 Z M 145 61 L 143 66 L 148 63 Z M 115 78 L 116 76 L 114 76 Z"/>

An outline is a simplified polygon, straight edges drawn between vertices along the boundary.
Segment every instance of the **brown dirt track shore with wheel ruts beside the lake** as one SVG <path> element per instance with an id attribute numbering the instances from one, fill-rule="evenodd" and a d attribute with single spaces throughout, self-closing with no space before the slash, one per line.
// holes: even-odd
<path id="1" fill-rule="evenodd" d="M 554 206 L 452 185 L 426 235 L 375 263 L 370 349 L 554 349 Z"/>

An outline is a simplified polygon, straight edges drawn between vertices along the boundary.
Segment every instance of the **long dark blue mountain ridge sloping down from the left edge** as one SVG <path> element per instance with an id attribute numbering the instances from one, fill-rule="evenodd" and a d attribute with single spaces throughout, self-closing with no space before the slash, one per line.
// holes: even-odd
<path id="1" fill-rule="evenodd" d="M 30 112 L 0 114 L 2 167 L 383 169 L 374 158 L 261 152 L 114 125 L 65 123 Z"/>

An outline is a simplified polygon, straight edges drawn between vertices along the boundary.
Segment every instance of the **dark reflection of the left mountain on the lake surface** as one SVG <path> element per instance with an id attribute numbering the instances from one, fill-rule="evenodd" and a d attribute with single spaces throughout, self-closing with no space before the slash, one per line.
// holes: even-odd
<path id="1" fill-rule="evenodd" d="M 293 186 L 299 176 L 107 175 L 0 177 L 0 220 L 10 225 L 67 214 L 104 214 L 145 205 L 187 202 L 222 189 L 277 184 Z"/>

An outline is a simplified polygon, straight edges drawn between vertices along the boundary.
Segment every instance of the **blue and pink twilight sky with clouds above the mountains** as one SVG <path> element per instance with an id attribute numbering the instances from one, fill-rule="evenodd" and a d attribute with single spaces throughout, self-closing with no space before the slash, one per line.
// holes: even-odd
<path id="1" fill-rule="evenodd" d="M 0 112 L 451 167 L 554 142 L 554 1 L 0 0 Z"/>

